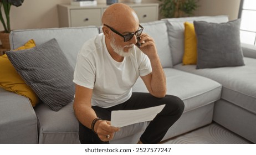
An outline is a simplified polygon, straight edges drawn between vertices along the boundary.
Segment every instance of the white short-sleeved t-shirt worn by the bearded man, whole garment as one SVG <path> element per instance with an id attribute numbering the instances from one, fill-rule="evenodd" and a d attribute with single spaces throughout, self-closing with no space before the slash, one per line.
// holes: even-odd
<path id="1" fill-rule="evenodd" d="M 91 105 L 107 108 L 127 101 L 137 78 L 152 72 L 149 58 L 136 46 L 133 50 L 119 63 L 107 51 L 103 33 L 83 45 L 73 82 L 93 89 Z"/>

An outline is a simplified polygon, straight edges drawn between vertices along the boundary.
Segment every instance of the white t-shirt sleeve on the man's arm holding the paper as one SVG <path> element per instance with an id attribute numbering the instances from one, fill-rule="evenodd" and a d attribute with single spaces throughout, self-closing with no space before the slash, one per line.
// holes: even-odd
<path id="1" fill-rule="evenodd" d="M 77 85 L 93 89 L 95 76 L 96 72 L 93 63 L 87 56 L 79 54 L 76 60 L 73 82 Z"/>

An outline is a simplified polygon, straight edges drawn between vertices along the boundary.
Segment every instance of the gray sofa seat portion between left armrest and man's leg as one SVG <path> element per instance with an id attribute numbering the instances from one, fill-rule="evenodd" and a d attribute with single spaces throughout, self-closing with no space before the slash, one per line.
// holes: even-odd
<path id="1" fill-rule="evenodd" d="M 39 143 L 80 143 L 73 101 L 57 112 L 40 102 L 35 107 L 35 113 L 38 118 Z"/>

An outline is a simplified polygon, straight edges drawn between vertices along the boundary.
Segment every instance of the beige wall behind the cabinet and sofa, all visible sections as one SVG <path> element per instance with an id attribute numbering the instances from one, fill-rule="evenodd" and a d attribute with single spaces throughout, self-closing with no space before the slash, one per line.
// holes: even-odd
<path id="1" fill-rule="evenodd" d="M 106 3 L 106 0 L 97 0 Z M 67 4 L 70 0 L 24 0 L 20 7 L 11 8 L 11 29 L 54 28 L 59 27 L 57 4 Z M 119 0 L 130 2 L 130 0 Z M 160 3 L 158 0 L 142 2 Z M 238 16 L 240 0 L 199 0 L 195 16 L 215 16 L 227 14 L 230 20 Z M 3 30 L 2 24 L 0 30 Z"/>

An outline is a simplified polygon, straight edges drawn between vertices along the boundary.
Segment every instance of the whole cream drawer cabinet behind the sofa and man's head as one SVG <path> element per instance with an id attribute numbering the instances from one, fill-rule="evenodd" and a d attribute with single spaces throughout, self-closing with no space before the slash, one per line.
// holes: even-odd
<path id="1" fill-rule="evenodd" d="M 140 23 L 158 20 L 158 3 L 126 3 L 137 13 Z M 83 27 L 101 25 L 101 17 L 108 6 L 79 7 L 58 4 L 59 27 Z"/>

